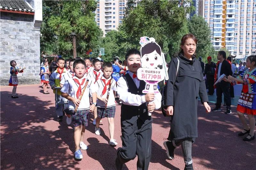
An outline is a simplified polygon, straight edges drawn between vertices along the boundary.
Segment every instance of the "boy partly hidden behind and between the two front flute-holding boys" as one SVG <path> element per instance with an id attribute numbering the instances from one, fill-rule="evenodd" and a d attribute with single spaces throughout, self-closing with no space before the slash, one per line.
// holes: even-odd
<path id="1" fill-rule="evenodd" d="M 94 84 L 96 84 L 96 82 L 101 78 L 102 76 L 102 71 L 100 70 L 101 65 L 100 65 L 100 60 L 99 59 L 94 59 L 92 60 L 92 66 L 94 67 L 94 69 L 90 72 L 90 74 L 88 74 L 88 77 L 90 77 L 90 79 L 92 79 L 92 82 Z M 95 108 L 95 110 L 93 111 L 93 125 L 96 125 L 96 118 L 97 118 L 97 107 Z"/>

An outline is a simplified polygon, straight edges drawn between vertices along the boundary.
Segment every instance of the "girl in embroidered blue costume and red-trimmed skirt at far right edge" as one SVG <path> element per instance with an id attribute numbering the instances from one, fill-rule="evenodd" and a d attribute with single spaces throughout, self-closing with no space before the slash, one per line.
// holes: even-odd
<path id="1" fill-rule="evenodd" d="M 238 134 L 238 136 L 244 136 L 244 141 L 252 141 L 255 139 L 254 127 L 256 115 L 256 56 L 250 55 L 246 59 L 246 68 L 249 70 L 244 70 L 237 78 L 233 76 L 228 76 L 225 81 L 231 82 L 233 85 L 243 84 L 243 89 L 240 98 L 237 102 L 237 115 L 243 124 L 243 131 Z M 249 126 L 246 122 L 244 114 L 248 115 Z"/>

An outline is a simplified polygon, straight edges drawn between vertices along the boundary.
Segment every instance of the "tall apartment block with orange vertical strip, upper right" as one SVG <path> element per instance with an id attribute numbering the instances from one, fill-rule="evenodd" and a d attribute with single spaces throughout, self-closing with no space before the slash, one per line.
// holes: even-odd
<path id="1" fill-rule="evenodd" d="M 216 50 L 226 48 L 241 59 L 255 55 L 256 0 L 202 0 L 198 15 L 209 24 Z"/>

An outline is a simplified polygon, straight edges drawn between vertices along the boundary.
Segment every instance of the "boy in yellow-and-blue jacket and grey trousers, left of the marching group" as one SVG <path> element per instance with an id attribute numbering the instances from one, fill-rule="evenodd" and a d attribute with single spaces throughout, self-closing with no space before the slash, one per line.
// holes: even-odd
<path id="1" fill-rule="evenodd" d="M 53 93 L 55 93 L 55 87 L 60 87 L 60 80 L 62 76 L 64 76 L 67 73 L 67 70 L 64 68 L 65 60 L 62 57 L 58 58 L 57 66 L 58 68 L 51 74 L 51 77 L 49 79 L 50 86 L 52 87 Z M 57 98 L 57 103 L 56 103 L 55 111 L 58 116 L 57 121 L 62 121 L 63 102 L 62 102 L 60 89 L 57 89 L 56 98 Z"/>

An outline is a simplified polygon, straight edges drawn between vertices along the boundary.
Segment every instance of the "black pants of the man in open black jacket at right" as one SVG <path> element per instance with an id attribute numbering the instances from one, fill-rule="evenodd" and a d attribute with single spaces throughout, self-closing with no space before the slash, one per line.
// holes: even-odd
<path id="1" fill-rule="evenodd" d="M 224 95 L 224 101 L 226 102 L 227 108 L 231 108 L 231 99 L 230 99 L 230 84 L 222 84 L 217 83 L 216 85 L 216 94 L 217 94 L 217 102 L 216 102 L 216 107 L 220 108 L 221 102 L 222 102 L 222 93 Z"/>

